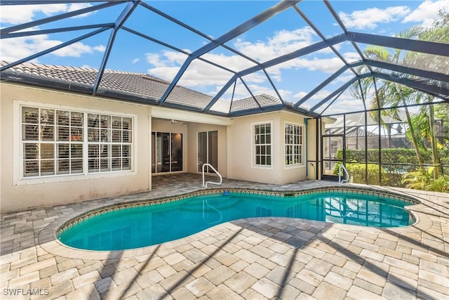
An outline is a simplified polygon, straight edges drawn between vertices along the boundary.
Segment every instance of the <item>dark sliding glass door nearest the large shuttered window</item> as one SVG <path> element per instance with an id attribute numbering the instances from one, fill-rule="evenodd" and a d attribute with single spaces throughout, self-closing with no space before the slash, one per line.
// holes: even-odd
<path id="1" fill-rule="evenodd" d="M 182 171 L 182 133 L 152 132 L 152 173 Z"/>

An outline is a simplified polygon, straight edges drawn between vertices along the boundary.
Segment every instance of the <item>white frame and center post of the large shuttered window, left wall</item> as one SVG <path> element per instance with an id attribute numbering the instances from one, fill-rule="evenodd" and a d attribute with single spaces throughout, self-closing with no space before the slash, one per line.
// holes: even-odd
<path id="1" fill-rule="evenodd" d="M 79 174 L 52 174 L 47 176 L 24 176 L 24 153 L 22 141 L 22 107 L 35 107 L 49 110 L 67 110 L 69 112 L 81 112 L 83 118 L 83 172 Z M 109 115 L 113 117 L 127 117 L 132 119 L 132 135 L 130 136 L 130 169 L 117 171 L 102 171 L 89 173 L 88 169 L 88 114 Z M 123 112 L 111 112 L 106 110 L 96 110 L 84 107 L 73 107 L 68 105 L 54 105 L 48 103 L 38 103 L 29 100 L 14 100 L 13 105 L 13 185 L 31 185 L 40 183 L 56 183 L 67 181 L 81 181 L 96 178 L 109 178 L 118 176 L 134 176 L 138 174 L 137 162 L 137 125 L 138 116 Z M 53 142 L 55 143 L 55 142 Z"/>

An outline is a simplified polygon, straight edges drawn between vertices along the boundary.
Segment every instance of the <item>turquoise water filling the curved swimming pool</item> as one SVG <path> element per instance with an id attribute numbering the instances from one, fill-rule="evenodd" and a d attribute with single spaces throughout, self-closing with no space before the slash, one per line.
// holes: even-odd
<path id="1" fill-rule="evenodd" d="M 400 227 L 413 223 L 407 202 L 371 195 L 319 193 L 276 197 L 229 193 L 119 209 L 94 216 L 60 233 L 70 247 L 120 250 L 187 237 L 236 219 L 283 216 L 358 226 Z"/>

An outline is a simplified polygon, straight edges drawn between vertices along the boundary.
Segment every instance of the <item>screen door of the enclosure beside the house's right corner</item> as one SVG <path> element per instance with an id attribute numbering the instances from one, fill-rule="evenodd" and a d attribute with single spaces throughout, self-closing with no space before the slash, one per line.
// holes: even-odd
<path id="1" fill-rule="evenodd" d="M 321 157 L 323 157 L 322 178 L 325 180 L 338 181 L 338 166 L 343 163 L 344 136 L 325 135 L 321 136 Z M 341 150 L 339 152 L 339 150 Z M 337 166 L 335 169 L 335 166 Z"/>

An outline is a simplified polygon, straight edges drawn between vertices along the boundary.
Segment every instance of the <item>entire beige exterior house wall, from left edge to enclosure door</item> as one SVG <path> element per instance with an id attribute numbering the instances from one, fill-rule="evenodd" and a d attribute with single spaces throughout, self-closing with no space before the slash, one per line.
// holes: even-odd
<path id="1" fill-rule="evenodd" d="M 82 176 L 20 178 L 20 105 L 133 117 L 133 170 Z M 284 184 L 313 179 L 315 168 L 319 167 L 316 163 L 319 160 L 316 157 L 316 120 L 309 119 L 306 126 L 304 117 L 293 112 L 269 112 L 229 119 L 4 83 L 1 83 L 0 108 L 2 212 L 151 190 L 152 131 L 182 133 L 182 172 L 199 173 L 198 133 L 202 131 L 218 131 L 218 171 L 224 178 Z M 172 123 L 170 119 L 176 122 Z M 272 165 L 257 167 L 253 164 L 253 126 L 265 122 L 272 124 Z M 286 123 L 304 128 L 302 165 L 285 164 Z"/>

